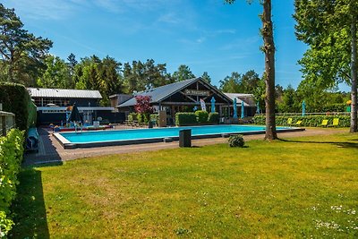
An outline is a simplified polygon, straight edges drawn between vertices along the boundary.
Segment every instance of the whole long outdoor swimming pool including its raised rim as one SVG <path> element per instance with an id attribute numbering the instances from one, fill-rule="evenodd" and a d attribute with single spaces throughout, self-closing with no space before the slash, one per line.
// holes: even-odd
<path id="1" fill-rule="evenodd" d="M 179 139 L 179 131 L 191 129 L 192 139 L 223 137 L 229 134 L 264 133 L 265 126 L 257 125 L 204 125 L 156 129 L 114 130 L 103 132 L 59 132 L 55 138 L 64 149 L 89 148 L 134 143 L 160 142 L 166 138 Z M 277 132 L 302 131 L 302 128 L 277 127 Z"/>

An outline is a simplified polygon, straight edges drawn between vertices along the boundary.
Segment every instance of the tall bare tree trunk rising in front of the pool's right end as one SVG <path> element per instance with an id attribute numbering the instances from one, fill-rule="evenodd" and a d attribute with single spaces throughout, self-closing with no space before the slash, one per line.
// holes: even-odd
<path id="1" fill-rule="evenodd" d="M 265 75 L 266 75 L 266 134 L 265 140 L 277 139 L 275 120 L 275 44 L 273 24 L 271 21 L 271 0 L 263 1 L 263 13 L 261 16 L 261 34 L 264 42 Z"/>

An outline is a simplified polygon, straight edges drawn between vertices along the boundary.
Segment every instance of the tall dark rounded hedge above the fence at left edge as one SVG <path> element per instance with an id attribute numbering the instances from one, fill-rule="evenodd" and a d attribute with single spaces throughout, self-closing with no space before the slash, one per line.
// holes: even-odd
<path id="1" fill-rule="evenodd" d="M 27 131 L 36 124 L 36 106 L 29 91 L 21 84 L 0 83 L 0 103 L 3 110 L 15 114 L 16 127 Z"/>

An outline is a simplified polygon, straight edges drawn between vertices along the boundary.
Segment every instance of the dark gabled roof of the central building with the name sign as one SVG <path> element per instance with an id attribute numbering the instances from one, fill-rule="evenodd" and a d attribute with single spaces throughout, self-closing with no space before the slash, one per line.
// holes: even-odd
<path id="1" fill-rule="evenodd" d="M 202 84 L 209 87 L 209 89 L 215 91 L 218 95 L 221 95 L 223 98 L 226 98 L 228 102 L 231 102 L 232 100 L 228 97 L 226 97 L 225 94 L 223 94 L 221 91 L 217 90 L 215 87 L 210 85 L 206 81 L 202 81 L 200 77 L 198 78 L 192 78 L 186 81 L 178 81 L 175 83 L 171 83 L 168 85 L 160 86 L 158 88 L 149 90 L 149 91 L 141 91 L 136 94 L 136 96 L 149 96 L 150 97 L 150 103 L 158 103 L 172 95 L 174 95 L 176 92 L 183 90 L 184 88 L 192 85 L 192 83 L 200 81 Z M 118 107 L 132 107 L 135 106 L 137 103 L 135 97 L 128 99 L 123 104 L 119 105 Z"/>

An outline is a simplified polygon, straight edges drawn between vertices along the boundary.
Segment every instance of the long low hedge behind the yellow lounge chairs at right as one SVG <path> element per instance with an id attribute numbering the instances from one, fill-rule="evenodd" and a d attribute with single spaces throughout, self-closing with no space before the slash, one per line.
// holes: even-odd
<path id="1" fill-rule="evenodd" d="M 333 124 L 333 119 L 339 119 L 339 127 L 349 127 L 351 122 L 351 117 L 349 115 L 306 115 L 306 116 L 290 116 L 290 115 L 277 115 L 276 124 L 277 125 L 286 125 L 287 119 L 292 118 L 293 124 L 301 120 L 301 126 L 311 126 L 317 127 L 322 124 L 324 119 L 328 120 L 328 124 Z M 255 115 L 253 117 L 254 124 L 265 124 L 265 115 Z"/>

